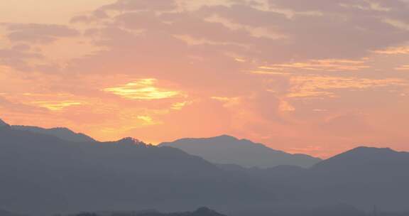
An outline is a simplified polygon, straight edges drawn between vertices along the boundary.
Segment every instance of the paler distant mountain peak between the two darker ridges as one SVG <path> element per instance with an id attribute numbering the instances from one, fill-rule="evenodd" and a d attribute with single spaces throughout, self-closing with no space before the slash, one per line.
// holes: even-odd
<path id="1" fill-rule="evenodd" d="M 179 139 L 160 146 L 171 146 L 207 161 L 218 164 L 236 164 L 244 167 L 271 168 L 279 165 L 310 167 L 320 162 L 305 154 L 290 154 L 233 136 L 216 136 L 202 139 Z"/>

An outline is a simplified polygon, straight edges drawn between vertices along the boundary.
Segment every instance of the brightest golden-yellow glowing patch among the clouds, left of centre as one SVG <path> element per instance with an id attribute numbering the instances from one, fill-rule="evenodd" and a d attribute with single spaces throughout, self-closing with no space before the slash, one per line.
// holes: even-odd
<path id="1" fill-rule="evenodd" d="M 126 99 L 137 100 L 166 99 L 181 97 L 183 95 L 182 92 L 177 90 L 167 90 L 156 87 L 157 82 L 158 80 L 153 78 L 140 79 L 118 87 L 105 88 L 104 92 L 111 92 L 114 95 L 119 95 Z"/>

